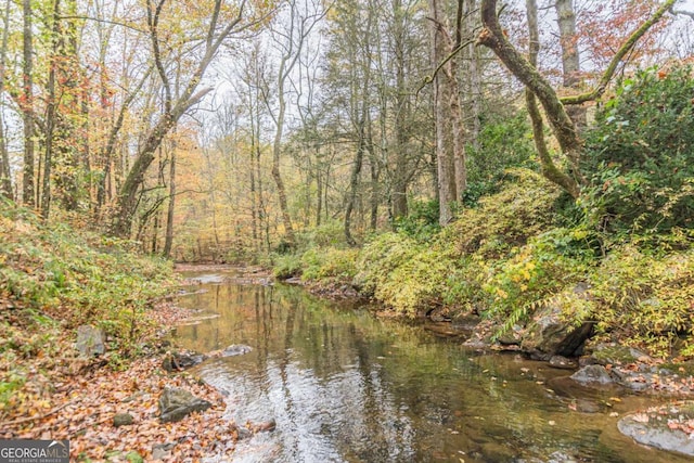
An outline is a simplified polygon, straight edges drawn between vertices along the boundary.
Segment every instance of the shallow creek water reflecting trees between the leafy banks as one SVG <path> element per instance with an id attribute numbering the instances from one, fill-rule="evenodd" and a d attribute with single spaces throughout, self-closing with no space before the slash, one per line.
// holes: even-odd
<path id="1" fill-rule="evenodd" d="M 654 398 L 583 389 L 570 371 L 481 355 L 427 325 L 300 287 L 188 276 L 200 284 L 179 304 L 200 312 L 175 330 L 177 343 L 253 348 L 195 374 L 226 395 L 230 420 L 277 422 L 240 441 L 234 462 L 692 461 L 617 430 L 618 416 Z"/>

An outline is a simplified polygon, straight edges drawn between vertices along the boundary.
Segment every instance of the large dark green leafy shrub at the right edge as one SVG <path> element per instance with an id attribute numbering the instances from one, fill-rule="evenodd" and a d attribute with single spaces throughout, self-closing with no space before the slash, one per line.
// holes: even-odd
<path id="1" fill-rule="evenodd" d="M 624 79 L 588 133 L 593 219 L 608 232 L 694 226 L 694 79 L 690 67 Z"/>

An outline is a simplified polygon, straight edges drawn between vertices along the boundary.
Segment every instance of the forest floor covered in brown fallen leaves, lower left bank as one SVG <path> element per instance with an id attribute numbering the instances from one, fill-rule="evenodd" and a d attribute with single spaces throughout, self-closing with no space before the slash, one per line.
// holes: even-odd
<path id="1" fill-rule="evenodd" d="M 171 304 L 147 312 L 164 326 L 188 316 Z M 67 338 L 59 343 L 63 351 L 75 350 Z M 0 438 L 68 439 L 70 461 L 83 462 L 196 462 L 233 452 L 240 429 L 224 417 L 222 396 L 188 373 L 167 373 L 163 356 L 152 353 L 124 370 L 105 368 L 99 358 L 29 359 L 25 366 L 33 374 L 10 401 Z M 157 400 L 167 386 L 187 389 L 211 407 L 177 423 L 160 423 Z M 116 427 L 119 413 L 130 414 L 132 424 Z"/>

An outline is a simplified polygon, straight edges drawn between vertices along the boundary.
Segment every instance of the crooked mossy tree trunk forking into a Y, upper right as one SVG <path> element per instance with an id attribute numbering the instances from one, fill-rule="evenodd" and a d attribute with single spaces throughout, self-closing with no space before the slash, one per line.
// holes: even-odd
<path id="1" fill-rule="evenodd" d="M 619 50 L 617 50 L 609 65 L 597 81 L 597 85 L 591 91 L 583 94 L 560 98 L 549 80 L 544 78 L 528 60 L 523 57 L 506 38 L 499 23 L 499 17 L 497 16 L 497 1 L 481 1 L 480 10 L 484 29 L 479 34 L 478 42 L 491 49 L 504 66 L 509 68 L 542 104 L 562 153 L 568 162 L 567 170 L 558 168 L 549 154 L 543 154 L 543 150 L 538 145 L 543 173 L 549 180 L 562 187 L 573 197 L 578 197 L 580 188 L 584 184 L 579 166 L 584 153 L 584 147 L 576 124 L 568 116 L 565 105 L 582 104 L 602 95 L 622 59 L 633 49 L 639 39 L 641 39 L 653 25 L 660 21 L 674 2 L 676 0 L 667 0 L 641 27 L 629 36 Z M 536 117 L 534 117 L 534 126 L 537 125 L 541 125 L 541 119 L 538 119 L 536 115 Z M 536 129 L 534 132 L 536 136 L 536 144 L 543 144 L 544 141 L 539 137 L 539 131 Z"/>

